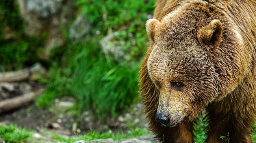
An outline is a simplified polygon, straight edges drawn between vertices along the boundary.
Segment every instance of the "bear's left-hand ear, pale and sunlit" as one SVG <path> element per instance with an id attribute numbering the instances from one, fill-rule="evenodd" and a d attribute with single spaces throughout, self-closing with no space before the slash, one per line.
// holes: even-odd
<path id="1" fill-rule="evenodd" d="M 152 41 L 155 40 L 155 33 L 158 24 L 160 24 L 160 21 L 158 21 L 157 19 L 150 19 L 146 22 L 146 31 Z"/>

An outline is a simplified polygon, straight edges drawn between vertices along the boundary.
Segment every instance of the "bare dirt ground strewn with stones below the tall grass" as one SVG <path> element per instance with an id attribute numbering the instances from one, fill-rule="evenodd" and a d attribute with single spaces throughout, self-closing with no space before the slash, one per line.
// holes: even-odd
<path id="1" fill-rule="evenodd" d="M 38 132 L 54 132 L 63 136 L 85 134 L 89 131 L 123 132 L 135 127 L 147 128 L 143 107 L 139 103 L 132 105 L 121 116 L 106 123 L 100 123 L 88 111 L 83 112 L 79 117 L 76 116 L 74 104 L 75 100 L 71 97 L 55 99 L 54 104 L 47 109 L 31 103 L 26 107 L 0 114 L 0 122 L 16 124 Z"/>

